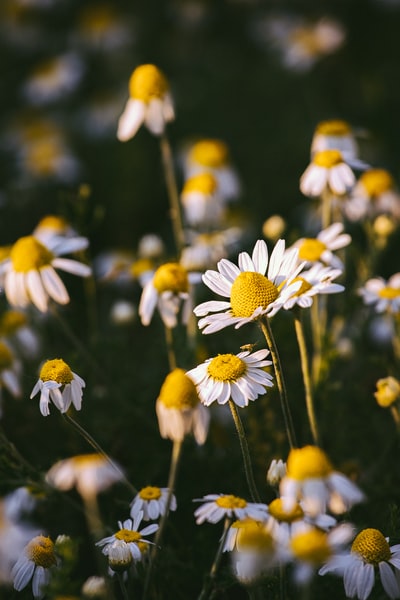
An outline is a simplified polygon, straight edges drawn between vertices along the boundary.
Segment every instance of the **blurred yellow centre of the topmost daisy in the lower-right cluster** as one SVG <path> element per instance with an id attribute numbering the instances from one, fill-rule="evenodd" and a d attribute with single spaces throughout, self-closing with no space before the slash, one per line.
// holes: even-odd
<path id="1" fill-rule="evenodd" d="M 324 478 L 332 472 L 332 465 L 325 452 L 318 446 L 293 448 L 287 460 L 287 475 L 292 479 Z"/>

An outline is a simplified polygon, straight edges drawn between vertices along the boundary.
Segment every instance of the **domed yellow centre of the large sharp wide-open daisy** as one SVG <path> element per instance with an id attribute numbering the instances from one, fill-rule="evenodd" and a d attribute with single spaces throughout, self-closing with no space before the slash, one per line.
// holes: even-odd
<path id="1" fill-rule="evenodd" d="M 278 296 L 278 288 L 267 277 L 244 271 L 232 284 L 232 313 L 235 317 L 251 317 L 256 308 L 267 308 Z"/>

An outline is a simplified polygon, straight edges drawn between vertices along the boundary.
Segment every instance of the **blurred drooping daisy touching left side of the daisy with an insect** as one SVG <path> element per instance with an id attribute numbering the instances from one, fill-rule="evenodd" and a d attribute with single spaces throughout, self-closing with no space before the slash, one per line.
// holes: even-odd
<path id="1" fill-rule="evenodd" d="M 165 378 L 156 413 L 161 437 L 180 442 L 192 433 L 198 444 L 206 441 L 210 413 L 201 404 L 196 386 L 183 369 L 174 369 Z"/>

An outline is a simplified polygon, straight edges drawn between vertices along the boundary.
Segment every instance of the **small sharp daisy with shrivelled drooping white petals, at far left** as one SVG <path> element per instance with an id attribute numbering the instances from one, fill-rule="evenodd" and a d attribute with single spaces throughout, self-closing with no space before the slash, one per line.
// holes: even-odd
<path id="1" fill-rule="evenodd" d="M 82 407 L 82 390 L 85 382 L 71 371 L 62 358 L 47 360 L 40 369 L 39 379 L 31 392 L 33 398 L 40 392 L 40 412 L 44 417 L 50 414 L 50 401 L 61 413 L 67 412 L 71 404 L 76 410 Z"/>

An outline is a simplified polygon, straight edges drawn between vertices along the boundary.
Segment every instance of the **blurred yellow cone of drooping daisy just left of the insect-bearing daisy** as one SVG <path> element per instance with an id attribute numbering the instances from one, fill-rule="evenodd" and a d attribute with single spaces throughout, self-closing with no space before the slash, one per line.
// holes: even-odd
<path id="1" fill-rule="evenodd" d="M 167 408 L 176 410 L 195 408 L 200 402 L 195 384 L 183 369 L 167 375 L 158 398 Z"/>

